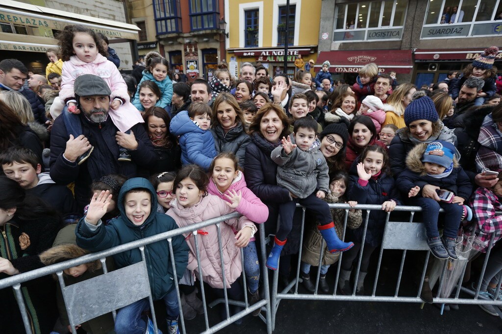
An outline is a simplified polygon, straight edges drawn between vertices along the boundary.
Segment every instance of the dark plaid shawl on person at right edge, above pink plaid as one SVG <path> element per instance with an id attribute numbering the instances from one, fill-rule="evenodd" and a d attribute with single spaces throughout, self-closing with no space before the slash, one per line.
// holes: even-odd
<path id="1" fill-rule="evenodd" d="M 502 132 L 493 121 L 491 114 L 484 117 L 477 142 L 481 145 L 475 158 L 478 173 L 502 169 Z"/>

